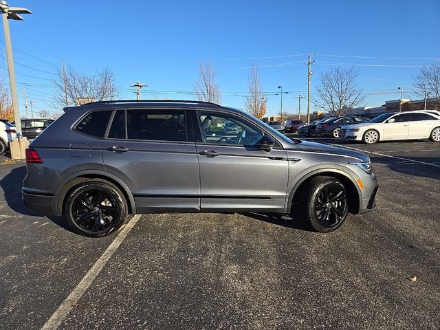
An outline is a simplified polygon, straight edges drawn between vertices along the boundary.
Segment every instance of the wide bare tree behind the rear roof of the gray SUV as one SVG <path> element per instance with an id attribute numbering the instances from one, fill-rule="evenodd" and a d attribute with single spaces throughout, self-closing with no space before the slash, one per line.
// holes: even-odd
<path id="1" fill-rule="evenodd" d="M 56 90 L 56 107 L 70 107 L 83 100 L 113 100 L 120 93 L 115 74 L 109 68 L 96 69 L 94 74 L 81 74 L 72 67 L 57 68 L 52 81 Z"/>

